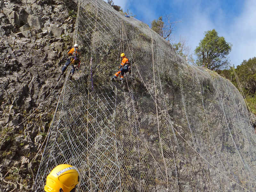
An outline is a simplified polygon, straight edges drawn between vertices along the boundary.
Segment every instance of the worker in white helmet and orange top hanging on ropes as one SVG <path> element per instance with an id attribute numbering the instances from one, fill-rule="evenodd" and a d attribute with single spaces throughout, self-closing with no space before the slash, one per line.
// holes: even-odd
<path id="1" fill-rule="evenodd" d="M 63 68 L 61 70 L 62 71 L 61 75 L 66 71 L 66 69 L 68 68 L 68 65 L 71 62 L 72 62 L 72 67 L 71 67 L 71 71 L 70 71 L 71 75 L 74 75 L 75 68 L 79 68 L 81 53 L 78 49 L 78 44 L 74 44 L 74 47 L 72 49 L 70 49 L 70 51 L 68 52 L 68 56 L 71 56 L 71 57 L 68 58 L 67 62 L 63 66 Z"/>

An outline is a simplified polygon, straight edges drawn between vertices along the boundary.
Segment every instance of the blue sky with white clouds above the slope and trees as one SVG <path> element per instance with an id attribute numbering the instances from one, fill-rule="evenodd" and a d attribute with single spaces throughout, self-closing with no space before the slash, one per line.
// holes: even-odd
<path id="1" fill-rule="evenodd" d="M 214 28 L 233 45 L 228 55 L 231 66 L 256 57 L 256 0 L 114 0 L 114 4 L 149 26 L 165 15 L 181 21 L 172 31 L 172 42 L 185 39 L 191 54 L 204 32 Z"/>

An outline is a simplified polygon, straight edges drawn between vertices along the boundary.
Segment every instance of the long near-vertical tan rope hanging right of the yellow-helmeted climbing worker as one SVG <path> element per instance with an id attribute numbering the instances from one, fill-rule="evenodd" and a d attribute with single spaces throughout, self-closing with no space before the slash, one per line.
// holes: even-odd
<path id="1" fill-rule="evenodd" d="M 149 27 L 148 27 L 149 28 Z M 164 161 L 164 166 L 165 166 L 165 173 L 166 173 L 166 180 L 167 180 L 167 190 L 168 190 L 168 173 L 167 173 L 167 166 L 164 160 L 164 151 L 163 151 L 163 144 L 162 144 L 162 139 L 160 137 L 160 129 L 159 129 L 159 116 L 158 116 L 158 107 L 157 107 L 157 101 L 156 101 L 156 78 L 155 78 L 155 67 L 154 67 L 154 49 L 153 49 L 153 36 L 152 32 L 149 28 L 149 32 L 151 35 L 151 51 L 152 51 L 152 64 L 153 64 L 153 79 L 154 79 L 154 89 L 155 89 L 155 103 L 156 103 L 156 118 L 157 118 L 157 128 L 158 128 L 158 136 L 159 136 L 159 142 L 161 145 L 161 153 Z"/>

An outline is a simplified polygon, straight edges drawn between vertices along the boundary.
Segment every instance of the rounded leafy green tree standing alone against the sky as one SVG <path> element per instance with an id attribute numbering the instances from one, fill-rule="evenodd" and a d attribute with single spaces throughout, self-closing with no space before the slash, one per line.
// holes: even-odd
<path id="1" fill-rule="evenodd" d="M 223 36 L 219 37 L 215 29 L 204 32 L 205 36 L 196 47 L 196 64 L 211 70 L 220 70 L 229 65 L 228 54 L 232 44 L 227 43 Z"/>

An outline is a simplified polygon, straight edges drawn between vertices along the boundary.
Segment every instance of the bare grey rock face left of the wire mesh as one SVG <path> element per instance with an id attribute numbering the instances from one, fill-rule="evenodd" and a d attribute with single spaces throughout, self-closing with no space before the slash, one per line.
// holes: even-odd
<path id="1" fill-rule="evenodd" d="M 0 1 L 0 192 L 31 187 L 28 164 L 47 133 L 62 88 L 60 69 L 72 46 L 75 18 L 61 3 Z M 31 164 L 34 171 L 40 154 Z M 20 186 L 4 182 L 17 177 Z"/>

